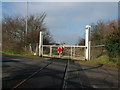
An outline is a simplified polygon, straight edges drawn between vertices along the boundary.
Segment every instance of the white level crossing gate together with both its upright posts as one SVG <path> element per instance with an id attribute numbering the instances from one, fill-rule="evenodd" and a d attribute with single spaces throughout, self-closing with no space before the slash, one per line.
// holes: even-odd
<path id="1" fill-rule="evenodd" d="M 43 45 L 43 34 L 40 31 L 39 36 L 39 56 L 59 57 L 59 58 L 72 58 L 79 60 L 90 60 L 90 27 L 85 27 L 85 45 Z M 58 53 L 58 48 L 64 47 L 62 54 Z"/>

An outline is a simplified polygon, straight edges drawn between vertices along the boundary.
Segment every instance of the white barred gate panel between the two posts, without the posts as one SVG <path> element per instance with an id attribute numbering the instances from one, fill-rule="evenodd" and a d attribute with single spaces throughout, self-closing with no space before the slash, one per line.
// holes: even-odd
<path id="1" fill-rule="evenodd" d="M 86 46 L 64 45 L 62 53 L 58 53 L 58 47 L 60 46 L 61 45 L 42 45 L 42 56 L 85 60 Z"/>

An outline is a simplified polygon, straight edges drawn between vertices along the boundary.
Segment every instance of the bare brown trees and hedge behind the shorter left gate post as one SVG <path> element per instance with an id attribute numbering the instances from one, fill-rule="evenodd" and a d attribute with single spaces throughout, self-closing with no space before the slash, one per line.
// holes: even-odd
<path id="1" fill-rule="evenodd" d="M 2 49 L 4 51 L 29 52 L 29 46 L 35 49 L 39 43 L 39 32 L 43 31 L 43 43 L 53 42 L 50 32 L 47 30 L 44 19 L 45 13 L 24 17 L 4 16 L 2 21 Z"/>

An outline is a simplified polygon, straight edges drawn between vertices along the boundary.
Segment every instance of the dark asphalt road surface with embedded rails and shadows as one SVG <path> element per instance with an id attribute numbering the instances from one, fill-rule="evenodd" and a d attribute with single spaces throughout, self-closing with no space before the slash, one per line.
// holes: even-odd
<path id="1" fill-rule="evenodd" d="M 2 56 L 2 89 L 109 88 L 118 90 L 118 71 L 68 59 Z M 66 71 L 66 72 L 65 72 Z"/>

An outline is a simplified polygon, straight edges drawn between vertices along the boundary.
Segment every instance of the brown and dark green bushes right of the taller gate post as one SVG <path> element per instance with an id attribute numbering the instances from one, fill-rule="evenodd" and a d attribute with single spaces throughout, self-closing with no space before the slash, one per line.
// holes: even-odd
<path id="1" fill-rule="evenodd" d="M 97 24 L 91 25 L 91 45 L 105 45 L 109 57 L 120 56 L 120 27 L 118 21 L 113 20 L 104 22 L 98 21 Z M 84 39 L 79 44 L 84 44 Z"/>

